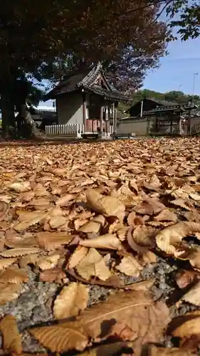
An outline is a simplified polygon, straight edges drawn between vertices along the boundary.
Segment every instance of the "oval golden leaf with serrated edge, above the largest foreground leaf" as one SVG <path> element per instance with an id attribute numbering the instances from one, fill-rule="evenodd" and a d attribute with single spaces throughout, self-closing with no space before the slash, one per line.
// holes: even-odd
<path id="1" fill-rule="evenodd" d="M 53 306 L 56 319 L 77 316 L 88 305 L 88 288 L 81 283 L 70 283 L 63 287 Z"/>

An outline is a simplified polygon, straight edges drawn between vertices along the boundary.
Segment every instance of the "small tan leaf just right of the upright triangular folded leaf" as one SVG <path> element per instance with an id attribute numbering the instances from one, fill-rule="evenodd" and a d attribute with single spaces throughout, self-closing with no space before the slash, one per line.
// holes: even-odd
<path id="1" fill-rule="evenodd" d="M 132 256 L 122 258 L 122 261 L 116 268 L 121 273 L 124 273 L 125 276 L 130 277 L 140 276 L 140 271 L 143 269 L 140 263 L 138 263 L 137 260 Z"/>

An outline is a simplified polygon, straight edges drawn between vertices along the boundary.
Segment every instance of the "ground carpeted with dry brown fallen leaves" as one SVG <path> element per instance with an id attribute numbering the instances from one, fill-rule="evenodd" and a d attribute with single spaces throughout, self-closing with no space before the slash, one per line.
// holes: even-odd
<path id="1" fill-rule="evenodd" d="M 200 140 L 0 154 L 0 355 L 199 355 Z"/>

